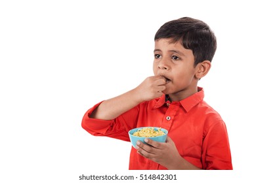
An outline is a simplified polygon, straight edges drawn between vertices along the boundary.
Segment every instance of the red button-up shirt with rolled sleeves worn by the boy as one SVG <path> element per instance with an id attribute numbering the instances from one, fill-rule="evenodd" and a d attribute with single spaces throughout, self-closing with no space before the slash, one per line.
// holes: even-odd
<path id="1" fill-rule="evenodd" d="M 83 116 L 82 127 L 96 136 L 129 141 L 128 131 L 135 127 L 156 126 L 169 131 L 179 154 L 201 169 L 232 169 L 226 125 L 205 101 L 202 88 L 182 101 L 165 101 L 165 95 L 140 103 L 114 120 L 89 118 L 100 103 Z M 166 169 L 131 148 L 129 169 Z"/>

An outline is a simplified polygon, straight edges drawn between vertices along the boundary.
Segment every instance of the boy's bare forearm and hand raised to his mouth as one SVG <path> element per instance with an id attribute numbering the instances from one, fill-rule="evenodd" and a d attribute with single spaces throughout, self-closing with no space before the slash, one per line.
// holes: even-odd
<path id="1" fill-rule="evenodd" d="M 150 76 L 137 86 L 137 88 L 103 101 L 93 111 L 90 118 L 112 120 L 143 101 L 161 97 L 163 95 L 161 91 L 163 90 L 165 90 L 165 79 L 162 76 Z"/>

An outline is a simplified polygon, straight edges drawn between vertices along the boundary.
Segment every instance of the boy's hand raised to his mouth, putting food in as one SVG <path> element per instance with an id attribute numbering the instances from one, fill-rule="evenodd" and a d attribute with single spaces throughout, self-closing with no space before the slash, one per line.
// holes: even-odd
<path id="1" fill-rule="evenodd" d="M 165 90 L 165 84 L 166 80 L 163 76 L 150 76 L 137 86 L 135 91 L 140 101 L 150 101 L 163 95 L 161 91 Z"/>

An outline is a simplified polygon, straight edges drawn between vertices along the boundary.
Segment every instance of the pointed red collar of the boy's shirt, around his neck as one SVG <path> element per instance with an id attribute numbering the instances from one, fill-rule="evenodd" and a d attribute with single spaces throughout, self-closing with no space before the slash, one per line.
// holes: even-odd
<path id="1" fill-rule="evenodd" d="M 188 112 L 191 108 L 196 106 L 200 101 L 203 100 L 204 92 L 203 88 L 198 87 L 198 92 L 194 93 L 193 95 L 190 95 L 189 97 L 186 97 L 186 99 L 183 99 L 181 101 L 178 101 L 178 103 L 181 104 L 181 106 Z M 175 101 L 177 103 L 177 101 Z M 155 99 L 155 105 L 154 109 L 160 108 L 165 104 L 165 95 L 161 95 L 160 98 Z"/>

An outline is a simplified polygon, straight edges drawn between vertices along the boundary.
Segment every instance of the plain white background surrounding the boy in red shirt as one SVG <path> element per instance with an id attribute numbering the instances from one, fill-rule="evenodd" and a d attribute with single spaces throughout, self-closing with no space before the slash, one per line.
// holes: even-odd
<path id="1" fill-rule="evenodd" d="M 81 119 L 153 75 L 156 31 L 183 16 L 203 20 L 217 37 L 211 71 L 199 86 L 226 122 L 234 171 L 168 173 L 179 182 L 249 179 L 256 102 L 251 2 L 0 1 L 0 182 L 148 173 L 127 171 L 129 142 L 93 137 Z"/>

